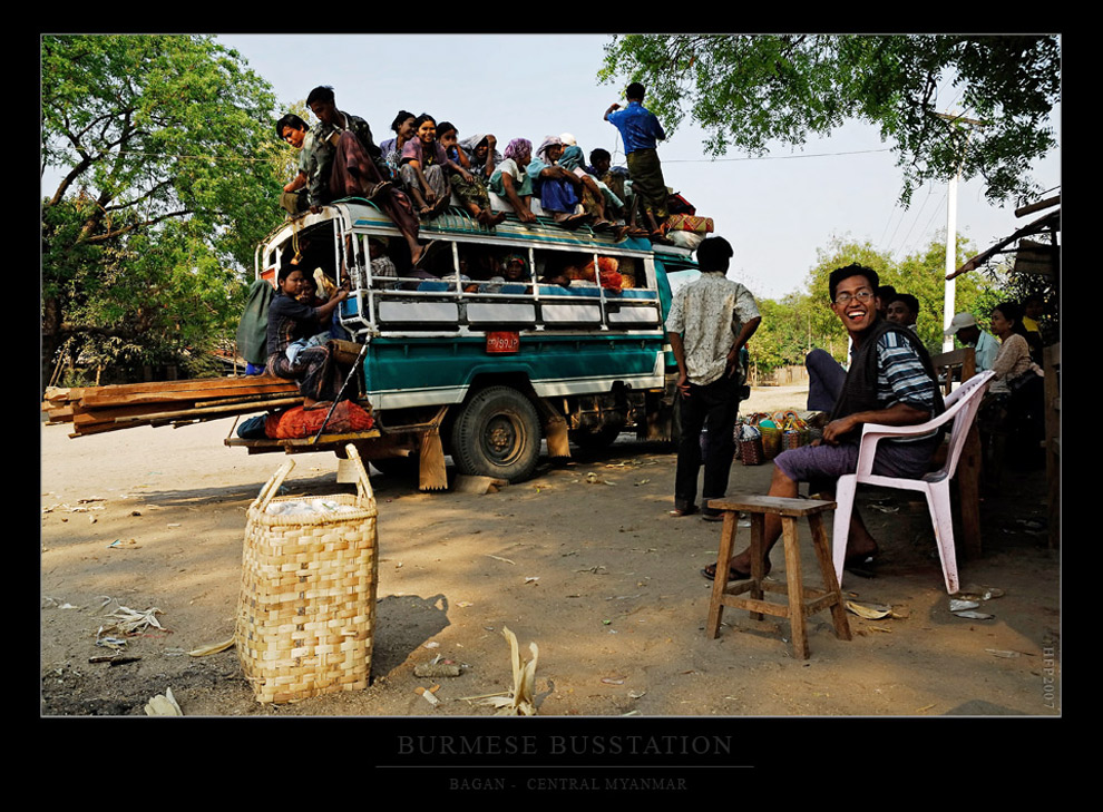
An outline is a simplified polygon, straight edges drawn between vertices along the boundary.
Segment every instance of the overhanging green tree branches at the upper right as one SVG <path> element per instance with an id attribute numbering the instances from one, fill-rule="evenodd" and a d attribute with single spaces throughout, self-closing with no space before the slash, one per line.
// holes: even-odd
<path id="1" fill-rule="evenodd" d="M 605 46 L 598 78 L 643 82 L 668 133 L 687 111 L 713 156 L 800 146 L 857 119 L 892 143 L 905 204 L 959 167 L 1003 200 L 1035 190 L 1025 172 L 1056 146 L 1060 58 L 1054 36 L 627 35 Z M 944 79 L 959 99 L 938 98 Z M 950 102 L 983 125 L 944 116 Z"/>

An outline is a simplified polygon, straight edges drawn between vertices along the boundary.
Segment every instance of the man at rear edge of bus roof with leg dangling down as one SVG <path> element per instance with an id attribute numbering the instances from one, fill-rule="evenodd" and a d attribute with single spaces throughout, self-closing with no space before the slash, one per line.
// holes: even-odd
<path id="1" fill-rule="evenodd" d="M 333 88 L 328 86 L 311 90 L 306 106 L 319 119 L 311 130 L 313 145 L 306 156 L 311 211 L 318 213 L 323 205 L 341 197 L 373 199 L 402 232 L 410 248 L 410 262 L 416 265 L 423 251 L 418 244 L 421 224 L 406 193 L 384 178 L 383 173 L 389 175 L 390 168 L 372 140 L 368 123 L 339 110 Z"/>

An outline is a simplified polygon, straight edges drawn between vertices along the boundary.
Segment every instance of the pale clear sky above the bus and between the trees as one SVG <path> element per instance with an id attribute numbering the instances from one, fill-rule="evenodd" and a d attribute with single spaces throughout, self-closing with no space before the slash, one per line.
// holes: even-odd
<path id="1" fill-rule="evenodd" d="M 570 133 L 588 156 L 607 149 L 624 163 L 616 129 L 603 120 L 622 87 L 596 79 L 602 35 L 227 35 L 217 37 L 272 84 L 290 106 L 331 85 L 338 107 L 371 125 L 377 143 L 392 137 L 400 110 L 449 120 L 460 138 L 492 133 L 539 145 Z M 955 95 L 939 98 L 951 104 Z M 646 105 L 646 100 L 645 100 Z M 959 111 L 959 110 L 954 110 Z M 1060 143 L 1060 110 L 1054 129 Z M 313 121 L 311 121 L 313 123 Z M 918 189 L 897 204 L 901 176 L 888 144 L 870 126 L 851 124 L 802 150 L 780 147 L 764 158 L 730 154 L 712 160 L 703 134 L 687 124 L 660 145 L 667 186 L 712 217 L 735 247 L 731 276 L 760 297 L 803 287 L 817 250 L 832 236 L 870 241 L 901 257 L 946 229 L 946 185 Z M 274 137 L 274 133 L 273 133 Z M 1061 184 L 1060 150 L 1034 168 L 1045 189 Z M 957 231 L 977 251 L 1025 225 L 1011 208 L 989 206 L 977 180 L 958 186 Z M 1037 216 L 1037 215 L 1035 215 Z"/>

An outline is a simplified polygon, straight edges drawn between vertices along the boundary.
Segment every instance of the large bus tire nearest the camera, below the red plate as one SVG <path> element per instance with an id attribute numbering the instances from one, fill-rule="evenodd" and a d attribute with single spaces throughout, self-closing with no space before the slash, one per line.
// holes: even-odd
<path id="1" fill-rule="evenodd" d="M 460 473 L 520 482 L 533 475 L 540 456 L 540 420 L 516 389 L 488 387 L 460 409 L 451 440 Z"/>

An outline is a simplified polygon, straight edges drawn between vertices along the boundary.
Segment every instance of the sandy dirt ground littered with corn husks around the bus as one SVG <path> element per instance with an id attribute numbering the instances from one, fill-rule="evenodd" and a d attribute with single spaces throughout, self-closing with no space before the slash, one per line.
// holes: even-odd
<path id="1" fill-rule="evenodd" d="M 799 408 L 803 395 L 757 389 L 743 411 Z M 720 527 L 668 517 L 675 456 L 628 436 L 485 496 L 421 493 L 373 470 L 372 683 L 258 704 L 233 648 L 189 655 L 233 634 L 245 511 L 284 460 L 225 447 L 232 425 L 76 439 L 41 427 L 41 716 L 141 716 L 167 689 L 193 717 L 491 716 L 470 697 L 511 687 L 506 627 L 526 658 L 539 647 L 544 717 L 1061 714 L 1061 570 L 1046 545 L 1044 471 L 1005 472 L 982 506 L 985 552 L 963 561 L 962 583 L 994 588 L 979 609 L 990 619 L 950 613 L 923 502 L 861 492 L 881 564 L 876 578 L 848 576 L 843 591 L 894 616 L 851 614 L 843 642 L 828 613 L 816 615 L 811 657 L 799 661 L 780 619 L 728 609 L 719 639 L 706 637 L 711 583 L 699 570 L 715 560 Z M 336 485 L 332 453 L 294 459 L 285 493 L 352 492 Z M 765 492 L 771 468 L 736 461 L 729 492 Z M 772 562 L 783 576 L 781 545 Z M 119 607 L 156 608 L 162 628 L 126 638 L 129 662 L 90 662 L 110 654 L 97 632 Z M 414 675 L 438 655 L 461 675 Z M 433 685 L 430 704 L 418 688 Z"/>

